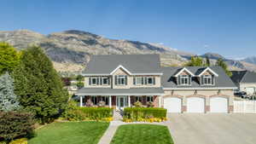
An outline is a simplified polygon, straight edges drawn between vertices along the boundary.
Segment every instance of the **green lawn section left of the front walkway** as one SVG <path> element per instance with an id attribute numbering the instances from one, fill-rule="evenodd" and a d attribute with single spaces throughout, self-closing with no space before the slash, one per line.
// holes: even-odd
<path id="1" fill-rule="evenodd" d="M 36 131 L 29 144 L 96 144 L 109 123 L 67 122 L 49 124 Z"/>

